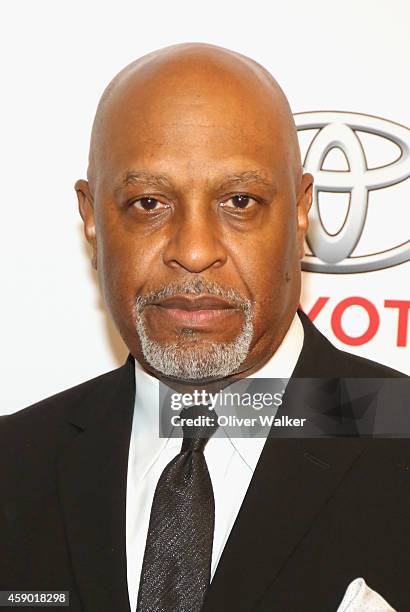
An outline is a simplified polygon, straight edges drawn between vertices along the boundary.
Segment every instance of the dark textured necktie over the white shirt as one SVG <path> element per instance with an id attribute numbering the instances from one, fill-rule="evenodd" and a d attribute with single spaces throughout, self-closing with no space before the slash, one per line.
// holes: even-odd
<path id="1" fill-rule="evenodd" d="M 183 426 L 181 452 L 159 477 L 137 612 L 199 612 L 209 587 L 215 502 L 204 449 L 217 417 L 203 405 L 186 408 L 181 417 L 199 417 L 201 424 Z"/>

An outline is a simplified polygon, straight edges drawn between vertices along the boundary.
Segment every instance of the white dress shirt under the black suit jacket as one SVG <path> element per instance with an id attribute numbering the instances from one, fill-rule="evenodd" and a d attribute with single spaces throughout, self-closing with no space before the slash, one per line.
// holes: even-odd
<path id="1" fill-rule="evenodd" d="M 289 379 L 303 345 L 297 313 L 276 352 L 249 378 Z M 181 438 L 160 438 L 159 381 L 135 360 L 135 407 L 128 455 L 126 552 L 131 612 L 137 606 L 142 561 L 152 500 L 165 466 L 180 452 Z M 215 531 L 211 579 L 259 460 L 264 438 L 211 438 L 205 459 L 215 498 Z"/>

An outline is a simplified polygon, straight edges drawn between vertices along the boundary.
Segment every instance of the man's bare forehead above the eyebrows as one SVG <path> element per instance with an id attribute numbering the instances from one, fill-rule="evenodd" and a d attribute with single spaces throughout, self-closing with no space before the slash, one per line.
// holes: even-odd
<path id="1" fill-rule="evenodd" d="M 286 130 L 267 92 L 245 82 L 164 79 L 128 87 L 105 112 L 96 152 L 104 182 L 130 168 L 193 180 L 258 169 L 280 175 L 286 165 Z"/>

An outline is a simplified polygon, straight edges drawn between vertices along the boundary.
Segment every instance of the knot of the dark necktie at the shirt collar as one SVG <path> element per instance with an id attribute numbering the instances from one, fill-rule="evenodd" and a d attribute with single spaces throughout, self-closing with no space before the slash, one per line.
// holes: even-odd
<path id="1" fill-rule="evenodd" d="M 188 406 L 181 412 L 182 441 L 181 452 L 198 451 L 203 453 L 206 443 L 218 429 L 218 419 L 215 411 L 209 405 L 196 404 Z"/>

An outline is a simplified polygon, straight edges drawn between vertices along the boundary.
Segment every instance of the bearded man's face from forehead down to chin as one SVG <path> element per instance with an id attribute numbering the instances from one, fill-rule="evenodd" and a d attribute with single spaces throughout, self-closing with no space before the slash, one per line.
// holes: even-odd
<path id="1" fill-rule="evenodd" d="M 106 304 L 147 369 L 247 375 L 298 304 L 308 175 L 296 184 L 285 135 L 252 95 L 140 91 L 112 113 L 93 205 L 80 200 Z"/>

